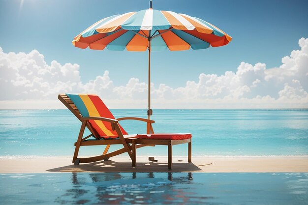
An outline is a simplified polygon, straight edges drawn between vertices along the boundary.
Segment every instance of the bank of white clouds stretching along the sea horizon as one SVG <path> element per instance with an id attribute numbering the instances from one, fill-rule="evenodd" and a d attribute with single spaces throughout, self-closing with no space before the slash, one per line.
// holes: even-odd
<path id="1" fill-rule="evenodd" d="M 283 57 L 279 67 L 241 62 L 237 71 L 223 75 L 199 75 L 185 87 L 152 84 L 153 108 L 308 108 L 308 38 L 299 40 L 301 50 Z M 131 78 L 115 86 L 105 70 L 83 83 L 78 64 L 47 64 L 33 50 L 4 53 L 0 48 L 0 109 L 63 108 L 59 93 L 95 93 L 110 108 L 146 108 L 147 83 Z"/>

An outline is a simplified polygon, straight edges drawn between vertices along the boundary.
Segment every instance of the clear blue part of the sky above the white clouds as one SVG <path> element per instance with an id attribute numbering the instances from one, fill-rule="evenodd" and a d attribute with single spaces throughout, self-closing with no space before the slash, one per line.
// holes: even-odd
<path id="1" fill-rule="evenodd" d="M 75 48 L 73 37 L 114 14 L 148 8 L 148 0 L 0 0 L 0 46 L 4 52 L 38 50 L 50 63 L 80 64 L 86 82 L 109 70 L 116 85 L 147 78 L 147 52 L 92 51 Z M 154 9 L 204 19 L 233 37 L 224 47 L 152 55 L 152 82 L 185 86 L 200 73 L 236 71 L 241 61 L 279 66 L 281 58 L 308 37 L 306 0 L 154 0 Z M 306 25 L 306 26 L 305 26 Z M 120 75 L 121 73 L 121 75 Z"/>

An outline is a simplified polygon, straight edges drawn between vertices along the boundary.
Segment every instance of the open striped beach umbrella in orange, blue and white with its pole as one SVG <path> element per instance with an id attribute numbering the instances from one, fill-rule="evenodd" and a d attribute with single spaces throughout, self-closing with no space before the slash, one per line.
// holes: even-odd
<path id="1" fill-rule="evenodd" d="M 150 8 L 104 18 L 77 35 L 78 48 L 149 51 L 148 118 L 151 110 L 151 51 L 206 49 L 228 44 L 232 37 L 196 17 Z"/>

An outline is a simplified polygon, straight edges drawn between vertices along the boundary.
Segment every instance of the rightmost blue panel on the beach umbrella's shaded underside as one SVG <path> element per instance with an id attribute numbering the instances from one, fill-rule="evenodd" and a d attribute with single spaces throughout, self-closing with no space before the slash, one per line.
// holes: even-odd
<path id="1" fill-rule="evenodd" d="M 210 44 L 208 42 L 205 42 L 193 35 L 190 35 L 183 30 L 173 29 L 171 32 L 174 32 L 177 36 L 185 40 L 185 42 L 188 43 L 193 50 L 206 49 L 210 47 Z"/>

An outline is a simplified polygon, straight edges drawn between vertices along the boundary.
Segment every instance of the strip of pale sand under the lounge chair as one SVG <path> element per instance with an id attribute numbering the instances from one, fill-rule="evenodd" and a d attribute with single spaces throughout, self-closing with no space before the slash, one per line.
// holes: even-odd
<path id="1" fill-rule="evenodd" d="M 137 167 L 131 166 L 128 156 L 116 156 L 108 161 L 74 165 L 68 157 L 0 159 L 0 173 L 50 172 L 205 172 L 205 173 L 308 173 L 307 156 L 266 157 L 192 157 L 187 163 L 184 156 L 173 157 L 172 171 L 168 170 L 166 156 L 137 157 Z M 181 161 L 182 160 L 182 161 Z"/>

